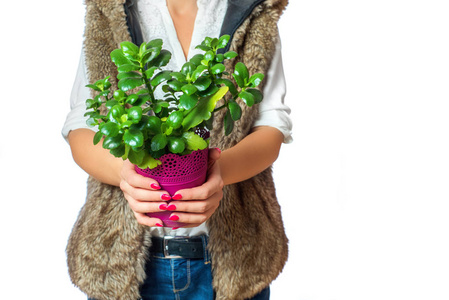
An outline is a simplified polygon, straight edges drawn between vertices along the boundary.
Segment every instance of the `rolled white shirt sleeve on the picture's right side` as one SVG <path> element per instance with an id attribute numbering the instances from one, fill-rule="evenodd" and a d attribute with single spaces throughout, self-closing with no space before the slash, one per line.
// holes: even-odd
<path id="1" fill-rule="evenodd" d="M 254 123 L 254 127 L 271 126 L 277 128 L 284 135 L 284 143 L 288 144 L 293 141 L 293 124 L 289 116 L 291 110 L 284 104 L 287 87 L 281 52 L 281 43 L 279 42 L 266 74 L 267 82 L 263 89 L 264 99 L 259 104 L 259 116 Z"/>

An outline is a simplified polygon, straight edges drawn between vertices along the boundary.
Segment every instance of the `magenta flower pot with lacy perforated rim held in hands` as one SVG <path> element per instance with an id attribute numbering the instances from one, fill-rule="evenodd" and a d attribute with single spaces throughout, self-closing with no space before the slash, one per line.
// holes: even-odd
<path id="1" fill-rule="evenodd" d="M 206 181 L 208 155 L 207 148 L 193 151 L 188 155 L 170 153 L 160 157 L 162 164 L 154 169 L 141 169 L 137 166 L 135 169 L 140 175 L 156 180 L 162 190 L 173 196 L 181 189 L 197 187 Z M 170 201 L 167 201 L 168 203 Z M 161 211 L 147 215 L 161 219 L 165 227 L 181 227 L 183 223 L 168 219 L 172 213 L 172 211 Z"/>

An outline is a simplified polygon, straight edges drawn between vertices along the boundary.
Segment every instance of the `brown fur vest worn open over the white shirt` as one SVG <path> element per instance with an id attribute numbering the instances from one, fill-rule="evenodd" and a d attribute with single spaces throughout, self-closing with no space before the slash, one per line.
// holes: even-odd
<path id="1" fill-rule="evenodd" d="M 109 54 L 131 40 L 125 0 L 86 0 L 85 53 L 91 82 L 116 74 Z M 232 36 L 236 51 L 250 73 L 267 73 L 278 41 L 277 21 L 287 0 L 228 0 L 222 33 Z M 134 37 L 134 36 L 133 36 Z M 230 61 L 232 68 L 236 61 Z M 115 84 L 115 82 L 113 82 Z M 260 88 L 263 88 L 261 86 Z M 211 147 L 232 147 L 251 130 L 258 105 L 242 107 L 232 134 L 216 125 Z M 216 115 L 214 122 L 223 122 Z M 216 299 L 246 299 L 267 287 L 287 260 L 287 237 L 276 199 L 271 168 L 224 188 L 217 211 L 207 221 Z M 88 192 L 67 245 L 72 282 L 89 297 L 103 300 L 139 299 L 151 237 L 137 223 L 118 187 L 88 180 Z"/>

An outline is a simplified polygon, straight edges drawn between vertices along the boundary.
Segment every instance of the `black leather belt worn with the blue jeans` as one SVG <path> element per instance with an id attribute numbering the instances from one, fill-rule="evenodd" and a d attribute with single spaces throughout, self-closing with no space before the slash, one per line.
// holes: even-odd
<path id="1" fill-rule="evenodd" d="M 152 254 L 163 255 L 165 258 L 204 258 L 205 236 L 152 237 Z"/>

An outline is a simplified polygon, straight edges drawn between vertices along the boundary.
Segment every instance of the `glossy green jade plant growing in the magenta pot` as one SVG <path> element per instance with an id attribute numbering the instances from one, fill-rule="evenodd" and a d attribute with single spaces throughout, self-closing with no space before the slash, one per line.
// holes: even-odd
<path id="1" fill-rule="evenodd" d="M 177 71 L 162 69 L 171 59 L 171 53 L 162 49 L 162 40 L 140 46 L 122 42 L 110 55 L 117 66 L 118 88 L 111 89 L 109 76 L 87 85 L 96 91 L 96 96 L 86 101 L 85 114 L 87 123 L 98 128 L 94 144 L 103 140 L 103 148 L 114 156 L 129 159 L 140 168 L 154 168 L 164 154 L 183 155 L 207 148 L 208 134 L 204 133 L 212 128 L 213 115 L 219 110 L 226 110 L 223 130 L 230 134 L 241 118 L 241 105 L 262 101 L 256 87 L 264 75 L 250 76 L 247 67 L 238 62 L 232 73 L 234 81 L 230 80 L 223 62 L 237 53 L 218 53 L 229 38 L 205 38 L 196 47 L 204 53 Z M 161 99 L 155 96 L 156 88 L 163 91 Z M 221 99 L 223 104 L 217 107 Z"/>

